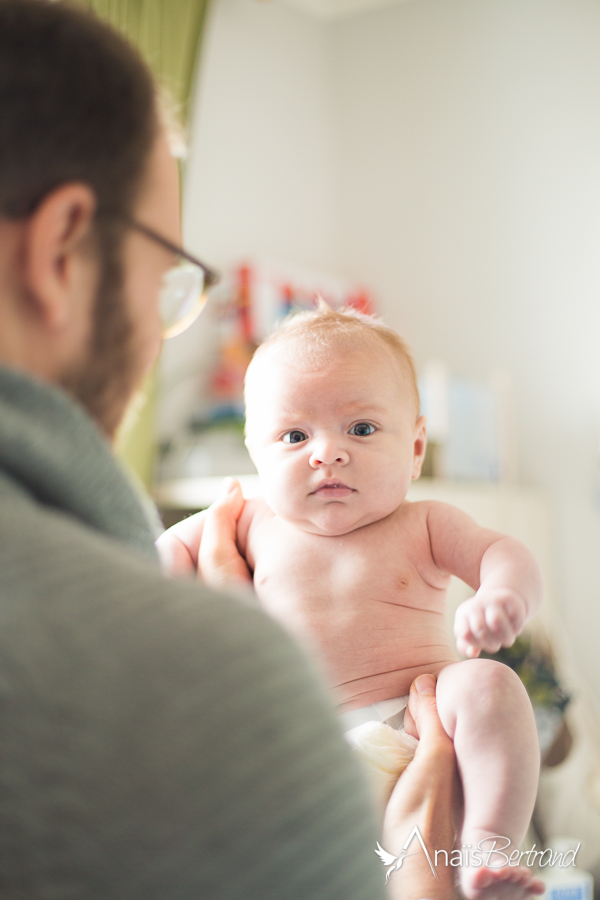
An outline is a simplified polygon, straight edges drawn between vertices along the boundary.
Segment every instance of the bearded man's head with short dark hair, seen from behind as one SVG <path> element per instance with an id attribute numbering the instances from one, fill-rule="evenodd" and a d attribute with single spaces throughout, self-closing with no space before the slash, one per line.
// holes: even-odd
<path id="1" fill-rule="evenodd" d="M 138 53 L 84 9 L 0 0 L 0 362 L 113 435 L 160 346 L 178 185 Z"/>

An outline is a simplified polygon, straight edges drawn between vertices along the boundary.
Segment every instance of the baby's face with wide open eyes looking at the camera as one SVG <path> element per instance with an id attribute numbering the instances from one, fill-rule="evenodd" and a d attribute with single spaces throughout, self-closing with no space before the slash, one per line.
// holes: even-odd
<path id="1" fill-rule="evenodd" d="M 265 500 L 304 531 L 340 535 L 383 519 L 425 453 L 425 419 L 386 345 L 323 352 L 300 339 L 257 360 L 247 387 L 248 449 Z"/>

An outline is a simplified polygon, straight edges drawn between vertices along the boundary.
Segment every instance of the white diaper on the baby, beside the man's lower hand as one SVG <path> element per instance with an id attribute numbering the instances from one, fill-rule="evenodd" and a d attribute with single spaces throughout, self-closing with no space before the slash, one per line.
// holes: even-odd
<path id="1" fill-rule="evenodd" d="M 381 700 L 340 716 L 345 738 L 365 766 L 378 803 L 384 808 L 418 741 L 404 730 L 406 697 Z"/>

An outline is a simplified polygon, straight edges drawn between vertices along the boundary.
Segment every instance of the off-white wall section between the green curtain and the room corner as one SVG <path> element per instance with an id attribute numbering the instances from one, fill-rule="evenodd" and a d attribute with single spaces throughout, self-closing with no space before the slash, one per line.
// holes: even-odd
<path id="1" fill-rule="evenodd" d="M 336 270 L 328 66 L 327 34 L 316 20 L 274 3 L 213 2 L 184 192 L 186 246 L 207 263 L 269 257 Z M 207 310 L 165 345 L 162 435 L 184 421 L 201 389 L 213 326 Z"/>

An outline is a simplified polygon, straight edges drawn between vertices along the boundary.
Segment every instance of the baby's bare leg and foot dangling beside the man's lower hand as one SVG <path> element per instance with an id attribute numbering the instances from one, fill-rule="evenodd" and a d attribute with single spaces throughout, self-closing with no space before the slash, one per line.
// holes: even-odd
<path id="1" fill-rule="evenodd" d="M 535 803 L 540 751 L 529 697 L 508 666 L 471 659 L 446 666 L 438 675 L 438 710 L 454 741 L 465 817 L 461 845 L 483 853 L 479 866 L 461 869 L 469 900 L 519 900 L 538 893 L 531 870 L 503 865 L 525 836 Z M 501 841 L 500 838 L 507 841 Z M 510 846 L 504 846 L 510 841 Z M 470 848 L 468 847 L 470 845 Z M 462 850 L 463 858 L 465 849 Z M 518 859 L 518 857 L 517 857 Z M 487 862 L 487 865 L 486 865 Z"/>

